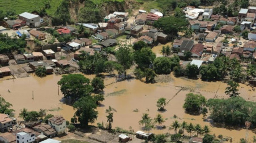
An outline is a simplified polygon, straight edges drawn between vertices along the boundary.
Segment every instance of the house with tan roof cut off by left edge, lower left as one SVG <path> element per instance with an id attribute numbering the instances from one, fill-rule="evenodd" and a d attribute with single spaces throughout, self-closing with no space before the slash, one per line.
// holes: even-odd
<path id="1" fill-rule="evenodd" d="M 8 68 L 8 67 L 5 67 Z M 0 131 L 6 132 L 12 127 L 14 119 L 9 117 L 7 114 L 0 114 Z"/>

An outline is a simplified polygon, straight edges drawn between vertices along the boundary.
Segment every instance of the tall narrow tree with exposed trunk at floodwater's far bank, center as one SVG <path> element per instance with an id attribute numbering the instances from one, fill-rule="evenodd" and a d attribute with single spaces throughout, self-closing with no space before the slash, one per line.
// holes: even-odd
<path id="1" fill-rule="evenodd" d="M 125 44 L 121 45 L 116 52 L 117 62 L 122 66 L 126 78 L 126 70 L 131 68 L 133 64 L 133 56 L 131 54 L 130 46 Z"/>

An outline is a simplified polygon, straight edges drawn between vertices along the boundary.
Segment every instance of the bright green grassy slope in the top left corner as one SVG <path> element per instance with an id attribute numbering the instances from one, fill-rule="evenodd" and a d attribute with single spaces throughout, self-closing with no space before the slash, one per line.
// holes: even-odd
<path id="1" fill-rule="evenodd" d="M 62 0 L 51 0 L 50 8 L 46 10 L 48 15 L 54 14 Z M 16 14 L 23 12 L 39 11 L 44 7 L 46 0 L 0 0 L 0 10 L 15 10 Z"/>

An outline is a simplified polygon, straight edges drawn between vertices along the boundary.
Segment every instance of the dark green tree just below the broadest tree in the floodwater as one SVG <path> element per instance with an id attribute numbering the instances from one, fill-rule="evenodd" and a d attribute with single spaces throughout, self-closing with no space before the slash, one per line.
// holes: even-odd
<path id="1" fill-rule="evenodd" d="M 94 123 L 97 119 L 97 105 L 92 99 L 92 96 L 80 98 L 73 104 L 73 108 L 76 109 L 75 116 L 78 117 L 78 121 L 82 127 L 87 127 L 88 123 Z"/>

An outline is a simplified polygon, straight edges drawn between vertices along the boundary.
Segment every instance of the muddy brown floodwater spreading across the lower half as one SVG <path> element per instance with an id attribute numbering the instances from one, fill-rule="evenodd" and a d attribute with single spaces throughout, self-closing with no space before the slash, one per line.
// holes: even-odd
<path id="1" fill-rule="evenodd" d="M 27 108 L 28 110 L 40 110 L 47 109 L 50 114 L 60 114 L 64 118 L 70 120 L 74 114 L 74 110 L 71 106 L 62 103 L 62 93 L 58 95 L 57 82 L 61 79 L 61 75 L 48 75 L 45 78 L 34 77 L 31 74 L 28 78 L 16 78 L 14 80 L 0 81 L 0 93 L 8 102 L 13 105 L 15 109 L 15 117 L 18 118 L 20 109 Z M 85 75 L 92 79 L 94 75 Z M 174 133 L 173 130 L 168 130 L 170 124 L 174 120 L 182 122 L 185 120 L 188 123 L 199 123 L 201 126 L 210 126 L 211 133 L 216 136 L 223 135 L 224 137 L 232 137 L 233 142 L 239 142 L 240 138 L 245 138 L 244 128 L 222 128 L 214 126 L 208 122 L 203 121 L 202 115 L 189 115 L 184 112 L 182 105 L 184 104 L 185 95 L 189 92 L 201 93 L 207 99 L 210 98 L 227 98 L 225 95 L 226 83 L 222 82 L 202 82 L 198 80 L 191 80 L 186 78 L 175 78 L 170 75 L 171 81 L 168 83 L 155 83 L 145 84 L 136 79 L 129 81 L 123 81 L 113 83 L 115 78 L 105 78 L 104 88 L 105 100 L 102 105 L 97 108 L 99 111 L 99 117 L 97 122 L 104 122 L 106 124 L 105 110 L 108 106 L 112 106 L 117 110 L 114 113 L 113 127 L 121 127 L 124 129 L 133 128 L 134 131 L 142 130 L 142 126 L 139 126 L 138 122 L 141 119 L 143 113 L 148 113 L 151 118 L 160 113 L 157 111 L 156 101 L 160 97 L 165 97 L 170 100 L 169 104 L 165 106 L 167 109 L 165 112 L 160 113 L 165 118 L 165 129 L 152 129 L 153 133 Z M 181 88 L 184 87 L 184 90 Z M 256 100 L 255 92 L 251 91 L 251 87 L 245 84 L 240 84 L 241 96 L 246 100 Z M 10 90 L 10 92 L 8 92 Z M 181 91 L 180 91 L 181 90 Z M 34 99 L 32 100 L 32 91 Z M 173 97 L 178 91 L 180 91 L 175 97 Z M 217 93 L 216 93 L 217 92 Z M 139 111 L 135 112 L 134 110 Z M 173 115 L 177 115 L 177 119 L 173 118 Z M 188 134 L 186 132 L 186 134 Z M 249 138 L 253 139 L 255 134 L 250 131 Z"/>

